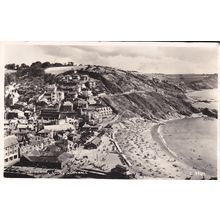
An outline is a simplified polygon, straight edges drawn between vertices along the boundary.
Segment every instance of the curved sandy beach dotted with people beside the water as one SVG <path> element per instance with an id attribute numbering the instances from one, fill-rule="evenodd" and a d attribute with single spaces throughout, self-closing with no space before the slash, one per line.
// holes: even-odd
<path id="1" fill-rule="evenodd" d="M 124 120 L 113 126 L 115 139 L 132 164 L 137 178 L 208 179 L 210 176 L 179 160 L 165 146 L 160 134 L 163 122 L 142 118 Z"/>

